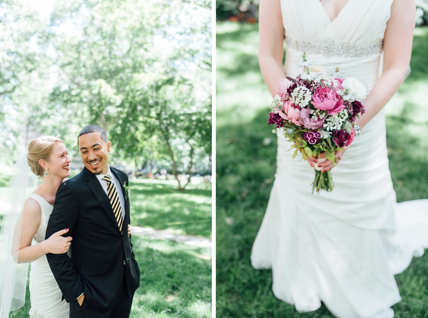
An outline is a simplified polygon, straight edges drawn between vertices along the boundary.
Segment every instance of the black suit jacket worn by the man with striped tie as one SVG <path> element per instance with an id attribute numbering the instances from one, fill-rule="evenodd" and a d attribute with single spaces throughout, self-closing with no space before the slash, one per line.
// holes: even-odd
<path id="1" fill-rule="evenodd" d="M 128 185 L 125 172 L 110 170 L 123 185 Z M 124 187 L 122 191 L 125 195 Z M 128 237 L 129 198 L 125 199 L 123 233 L 119 231 L 109 198 L 97 177 L 83 168 L 75 177 L 62 183 L 46 229 L 46 239 L 56 231 L 69 228 L 71 259 L 64 254 L 46 254 L 53 276 L 67 303 L 84 292 L 82 307 L 105 312 L 119 298 L 126 279 L 132 296 L 140 285 L 140 270 Z"/>

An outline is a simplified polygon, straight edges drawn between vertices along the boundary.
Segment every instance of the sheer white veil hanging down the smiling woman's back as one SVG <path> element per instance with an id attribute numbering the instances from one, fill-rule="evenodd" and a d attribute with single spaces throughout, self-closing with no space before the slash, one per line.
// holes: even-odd
<path id="1" fill-rule="evenodd" d="M 19 237 L 21 235 L 22 209 L 28 194 L 37 187 L 38 177 L 31 172 L 24 153 L 15 163 L 9 192 L 3 210 L 0 232 L 0 318 L 25 303 L 28 263 L 18 264 Z"/>

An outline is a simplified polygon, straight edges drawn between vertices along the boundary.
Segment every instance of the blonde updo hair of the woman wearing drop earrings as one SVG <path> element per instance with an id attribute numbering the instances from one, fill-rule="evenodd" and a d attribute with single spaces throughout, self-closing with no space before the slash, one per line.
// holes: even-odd
<path id="1" fill-rule="evenodd" d="M 53 136 L 40 136 L 30 141 L 30 144 L 28 144 L 27 159 L 33 174 L 41 176 L 44 173 L 39 160 L 48 161 L 52 155 L 53 145 L 59 142 L 64 143 L 58 137 Z"/>

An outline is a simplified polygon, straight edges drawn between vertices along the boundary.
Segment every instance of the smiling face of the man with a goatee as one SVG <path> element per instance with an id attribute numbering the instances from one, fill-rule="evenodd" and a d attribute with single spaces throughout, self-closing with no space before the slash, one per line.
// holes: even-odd
<path id="1" fill-rule="evenodd" d="M 106 144 L 99 132 L 90 132 L 80 135 L 78 142 L 85 167 L 93 174 L 107 174 L 110 141 Z"/>

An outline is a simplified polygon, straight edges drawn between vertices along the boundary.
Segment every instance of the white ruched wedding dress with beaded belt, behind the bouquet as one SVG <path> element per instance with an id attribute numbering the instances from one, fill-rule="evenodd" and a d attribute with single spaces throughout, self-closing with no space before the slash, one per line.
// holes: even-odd
<path id="1" fill-rule="evenodd" d="M 319 0 L 281 0 L 286 75 L 300 73 L 295 62 L 305 51 L 327 75 L 339 67 L 342 78 L 353 76 L 371 90 L 391 4 L 349 0 L 332 22 Z M 314 169 L 292 159 L 290 148 L 279 132 L 275 181 L 253 245 L 253 267 L 272 268 L 273 294 L 300 312 L 323 301 L 339 318 L 393 317 L 390 307 L 401 300 L 394 274 L 428 247 L 428 200 L 396 203 L 384 111 L 332 169 L 333 192 L 311 193 Z"/>

